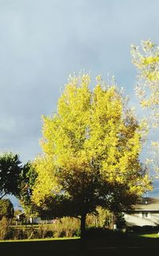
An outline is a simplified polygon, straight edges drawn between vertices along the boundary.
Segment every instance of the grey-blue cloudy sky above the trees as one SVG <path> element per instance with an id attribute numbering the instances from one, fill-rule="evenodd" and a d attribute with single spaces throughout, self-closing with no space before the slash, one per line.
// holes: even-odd
<path id="1" fill-rule="evenodd" d="M 136 103 L 130 45 L 159 44 L 158 10 L 157 0 L 0 0 L 0 150 L 40 153 L 41 114 L 83 68 L 111 72 Z"/>

